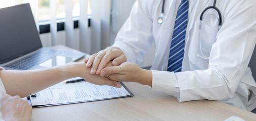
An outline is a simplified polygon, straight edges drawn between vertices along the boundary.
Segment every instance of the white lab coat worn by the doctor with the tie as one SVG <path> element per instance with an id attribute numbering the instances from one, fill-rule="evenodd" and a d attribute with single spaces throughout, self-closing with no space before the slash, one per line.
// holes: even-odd
<path id="1" fill-rule="evenodd" d="M 181 0 L 167 0 L 165 20 L 157 24 L 162 0 L 138 0 L 113 46 L 121 48 L 128 62 L 139 63 L 155 46 L 152 89 L 178 97 L 179 101 L 220 100 L 251 111 L 256 107 L 256 84 L 248 63 L 256 42 L 256 1 L 217 1 L 223 24 L 207 18 L 202 26 L 200 53 L 200 14 L 213 0 L 189 0 L 188 23 L 182 72 L 166 72 L 176 13 Z M 207 11 L 205 14 L 214 14 Z M 250 95 L 250 97 L 249 97 Z"/>

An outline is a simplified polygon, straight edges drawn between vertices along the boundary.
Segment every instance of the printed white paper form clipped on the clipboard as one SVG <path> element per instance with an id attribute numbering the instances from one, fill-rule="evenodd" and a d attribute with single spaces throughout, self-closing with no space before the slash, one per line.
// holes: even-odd
<path id="1" fill-rule="evenodd" d="M 37 97 L 30 97 L 30 101 L 32 106 L 38 106 L 95 101 L 130 95 L 133 96 L 124 86 L 122 86 L 122 88 L 115 88 L 111 86 L 94 85 L 89 82 L 59 83 L 38 92 Z"/>

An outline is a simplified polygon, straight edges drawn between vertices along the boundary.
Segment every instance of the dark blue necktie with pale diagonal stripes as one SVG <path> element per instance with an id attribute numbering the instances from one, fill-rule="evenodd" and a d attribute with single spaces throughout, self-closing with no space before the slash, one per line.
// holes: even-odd
<path id="1" fill-rule="evenodd" d="M 184 45 L 187 27 L 188 0 L 182 0 L 176 15 L 170 54 L 168 59 L 169 72 L 181 72 L 184 56 Z"/>

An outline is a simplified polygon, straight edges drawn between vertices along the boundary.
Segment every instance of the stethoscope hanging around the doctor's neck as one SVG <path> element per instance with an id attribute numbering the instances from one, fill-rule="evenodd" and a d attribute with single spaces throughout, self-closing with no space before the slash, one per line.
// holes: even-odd
<path id="1" fill-rule="evenodd" d="M 218 13 L 218 26 L 219 26 L 219 29 L 220 27 L 222 26 L 222 17 L 221 17 L 221 13 L 219 11 L 219 9 L 216 7 L 216 2 L 217 0 L 214 0 L 213 2 L 213 5 L 212 6 L 209 6 L 207 7 L 206 9 L 204 9 L 204 11 L 202 12 L 202 14 L 200 15 L 200 32 L 199 32 L 199 44 L 200 44 L 200 52 L 201 52 L 201 55 L 198 53 L 196 54 L 197 57 L 201 57 L 203 59 L 209 59 L 208 56 L 205 56 L 203 54 L 203 51 L 202 51 L 202 46 L 201 46 L 201 27 L 202 27 L 202 23 L 203 23 L 203 15 L 204 13 L 209 10 L 209 9 L 214 9 L 217 13 Z M 164 18 L 165 18 L 165 14 L 164 14 L 164 9 L 165 9 L 165 0 L 163 0 L 163 5 L 162 5 L 162 11 L 161 11 L 161 16 L 158 17 L 157 19 L 157 23 L 162 26 L 163 22 L 164 22 Z M 215 15 L 214 15 L 215 16 Z M 217 17 L 216 17 L 217 18 Z"/>

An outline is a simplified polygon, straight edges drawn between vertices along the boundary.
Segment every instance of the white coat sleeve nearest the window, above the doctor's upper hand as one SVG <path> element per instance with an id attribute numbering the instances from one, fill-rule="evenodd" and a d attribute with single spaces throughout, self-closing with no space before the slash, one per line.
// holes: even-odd
<path id="1" fill-rule="evenodd" d="M 152 46 L 151 4 L 154 1 L 135 2 L 130 17 L 119 30 L 112 46 L 119 47 L 127 57 L 127 62 L 140 63 Z M 150 4 L 150 5 L 149 5 Z"/>

